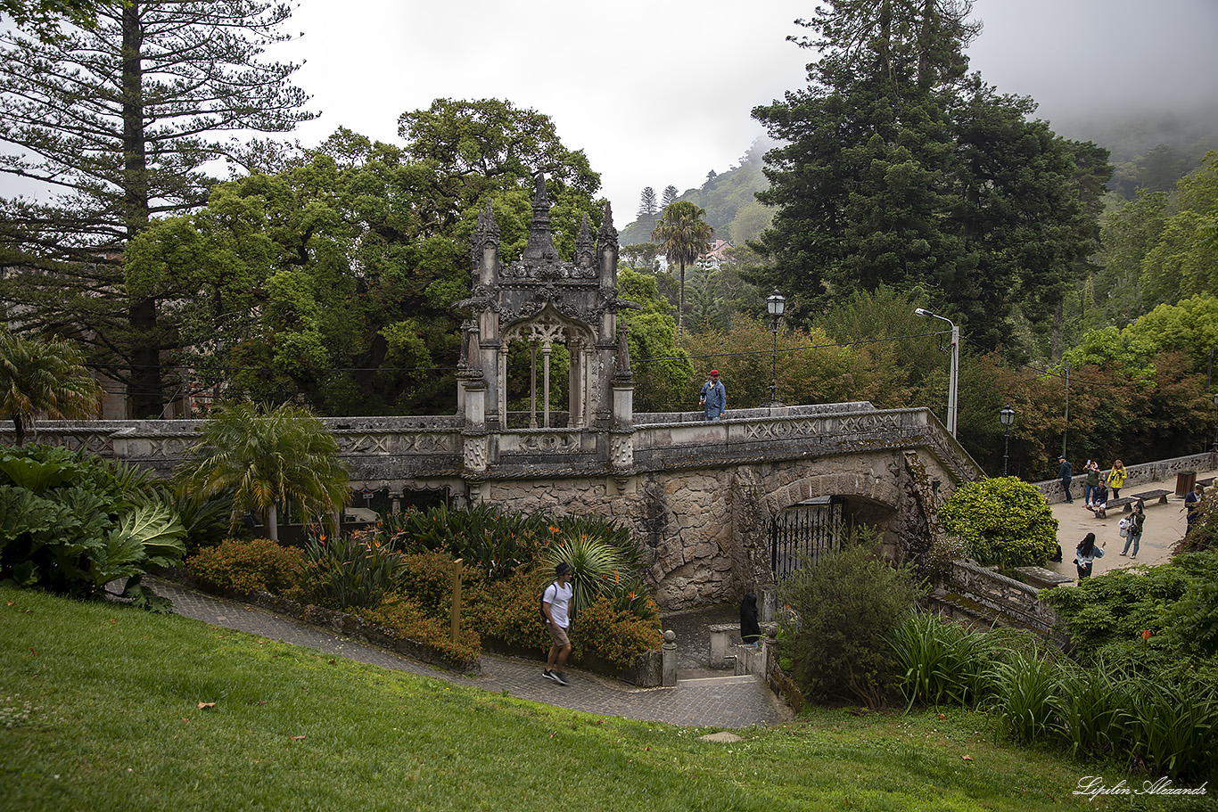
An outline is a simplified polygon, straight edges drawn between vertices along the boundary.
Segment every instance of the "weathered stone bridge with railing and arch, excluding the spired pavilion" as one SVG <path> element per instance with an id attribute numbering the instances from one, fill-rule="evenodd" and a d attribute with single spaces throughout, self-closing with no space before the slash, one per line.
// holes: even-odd
<path id="1" fill-rule="evenodd" d="M 438 491 L 456 503 L 602 515 L 628 523 L 665 609 L 737 600 L 773 582 L 766 527 L 800 502 L 837 497 L 843 519 L 883 534 L 896 558 L 939 533 L 938 506 L 980 470 L 928 409 L 870 403 L 636 414 L 615 435 L 630 465 L 598 453 L 594 429 L 503 429 L 479 435 L 471 470 L 462 418 L 328 418 L 356 492 Z M 512 415 L 510 422 L 516 422 Z M 527 415 L 525 415 L 527 418 Z M 558 422 L 563 415 L 555 415 Z M 526 421 L 526 420 L 525 420 Z M 83 448 L 168 476 L 202 421 L 40 421 L 34 442 Z M 12 441 L 11 427 L 0 442 Z M 357 500 L 358 504 L 358 500 Z"/>

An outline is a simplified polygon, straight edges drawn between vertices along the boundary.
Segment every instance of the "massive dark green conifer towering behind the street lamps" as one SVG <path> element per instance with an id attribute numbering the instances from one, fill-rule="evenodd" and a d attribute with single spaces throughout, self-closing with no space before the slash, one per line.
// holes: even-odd
<path id="1" fill-rule="evenodd" d="M 1028 121 L 1028 99 L 968 74 L 970 0 L 828 0 L 800 45 L 809 86 L 753 111 L 778 207 L 760 280 L 815 312 L 881 285 L 935 290 L 970 343 L 1027 320 L 1047 338 L 1096 247 L 1106 151 Z M 1045 347 L 1047 349 L 1047 345 Z"/>

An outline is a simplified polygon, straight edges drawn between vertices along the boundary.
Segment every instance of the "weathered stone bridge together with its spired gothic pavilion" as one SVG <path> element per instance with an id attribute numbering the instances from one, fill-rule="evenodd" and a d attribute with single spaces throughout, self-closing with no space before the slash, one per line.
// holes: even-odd
<path id="1" fill-rule="evenodd" d="M 354 488 L 387 491 L 389 510 L 409 492 L 442 491 L 457 503 L 621 520 L 665 609 L 734 601 L 772 584 L 767 522 L 810 499 L 833 498 L 833 527 L 876 527 L 895 558 L 942 533 L 938 506 L 980 469 L 928 409 L 733 405 L 719 421 L 635 414 L 618 312 L 638 306 L 618 297 L 613 213 L 607 206 L 594 239 L 583 218 L 568 262 L 551 237 L 541 177 L 532 208 L 519 259 L 499 257 L 490 203 L 479 217 L 470 297 L 456 306 L 465 317 L 456 414 L 325 420 Z M 555 343 L 566 346 L 565 370 Z M 527 413 L 508 410 L 513 355 L 531 368 Z M 566 376 L 565 409 L 552 403 L 552 373 Z M 199 429 L 191 420 L 44 421 L 37 441 L 168 475 Z M 6 438 L 11 429 L 0 430 Z"/>

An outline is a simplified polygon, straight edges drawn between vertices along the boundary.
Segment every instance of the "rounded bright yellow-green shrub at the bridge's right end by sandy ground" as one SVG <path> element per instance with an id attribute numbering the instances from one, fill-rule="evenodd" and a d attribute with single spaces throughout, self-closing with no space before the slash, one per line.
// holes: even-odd
<path id="1" fill-rule="evenodd" d="M 943 527 L 983 565 L 1041 566 L 1057 549 L 1057 520 L 1034 486 L 1013 476 L 966 482 L 939 509 Z"/>

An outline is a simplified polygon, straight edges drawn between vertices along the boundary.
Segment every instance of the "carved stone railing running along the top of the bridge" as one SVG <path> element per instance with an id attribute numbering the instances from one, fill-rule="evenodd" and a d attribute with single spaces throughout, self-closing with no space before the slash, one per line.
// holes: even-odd
<path id="1" fill-rule="evenodd" d="M 737 409 L 706 421 L 700 413 L 635 415 L 611 432 L 590 429 L 482 431 L 493 442 L 486 476 L 630 476 L 649 470 L 708 467 L 875 450 L 918 449 L 959 481 L 980 470 L 928 409 L 879 410 L 870 403 Z M 397 487 L 465 474 L 457 416 L 326 418 L 356 487 Z M 201 420 L 41 421 L 30 442 L 85 448 L 169 475 L 199 441 Z M 12 443 L 0 427 L 0 443 Z M 627 454 L 626 450 L 631 453 Z"/>

